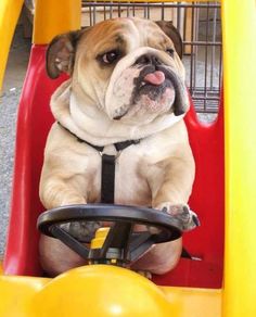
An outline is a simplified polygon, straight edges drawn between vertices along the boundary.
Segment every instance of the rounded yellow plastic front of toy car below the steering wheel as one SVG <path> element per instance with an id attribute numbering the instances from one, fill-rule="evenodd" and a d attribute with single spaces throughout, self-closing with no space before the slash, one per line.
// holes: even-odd
<path id="1" fill-rule="evenodd" d="M 221 310 L 219 290 L 158 288 L 106 265 L 79 267 L 52 280 L 2 276 L 0 286 L 0 316 L 217 317 Z"/>

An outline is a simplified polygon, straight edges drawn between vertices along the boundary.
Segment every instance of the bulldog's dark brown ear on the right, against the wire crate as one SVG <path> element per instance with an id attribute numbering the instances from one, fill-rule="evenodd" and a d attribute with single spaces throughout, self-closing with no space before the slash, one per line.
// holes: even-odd
<path id="1" fill-rule="evenodd" d="M 180 33 L 174 26 L 172 22 L 171 21 L 156 21 L 155 23 L 171 39 L 171 41 L 175 45 L 176 52 L 178 53 L 180 59 L 182 59 L 182 54 L 183 54 L 182 39 L 181 39 Z"/>

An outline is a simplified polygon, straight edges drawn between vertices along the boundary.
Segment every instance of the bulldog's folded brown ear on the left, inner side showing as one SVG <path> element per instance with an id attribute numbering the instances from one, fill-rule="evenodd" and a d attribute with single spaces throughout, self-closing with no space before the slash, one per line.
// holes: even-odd
<path id="1" fill-rule="evenodd" d="M 61 73 L 72 74 L 77 42 L 84 31 L 74 30 L 57 35 L 47 50 L 47 74 L 54 79 Z"/>

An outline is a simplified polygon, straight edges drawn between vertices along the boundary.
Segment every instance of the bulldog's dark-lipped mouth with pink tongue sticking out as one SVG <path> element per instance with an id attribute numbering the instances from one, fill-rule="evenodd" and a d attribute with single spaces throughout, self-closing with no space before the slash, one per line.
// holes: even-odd
<path id="1" fill-rule="evenodd" d="M 170 67 L 152 64 L 144 66 L 133 79 L 133 87 L 130 104 L 146 106 L 148 111 L 155 113 L 168 112 L 171 109 L 175 115 L 185 112 L 184 86 Z M 127 105 L 119 107 L 114 119 L 123 118 L 129 111 Z"/>

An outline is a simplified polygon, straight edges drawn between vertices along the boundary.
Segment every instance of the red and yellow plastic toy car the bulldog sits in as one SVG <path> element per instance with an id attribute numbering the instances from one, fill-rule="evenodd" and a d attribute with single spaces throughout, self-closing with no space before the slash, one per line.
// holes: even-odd
<path id="1" fill-rule="evenodd" d="M 22 3 L 3 0 L 0 4 L 0 35 L 1 38 L 3 33 L 7 35 L 1 43 L 0 78 Z M 149 281 L 126 268 L 110 265 L 113 256 L 105 258 L 107 252 L 103 248 L 105 264 L 79 267 L 54 279 L 42 276 L 36 224 L 43 207 L 38 183 L 44 142 L 53 122 L 49 100 L 66 79 L 47 77 L 44 54 L 54 35 L 79 28 L 79 12 L 78 0 L 36 3 L 34 46 L 18 109 L 11 220 L 0 276 L 0 316 L 256 316 L 254 0 L 243 4 L 222 1 L 225 81 L 218 118 L 203 125 L 193 106 L 185 117 L 196 162 L 190 205 L 202 223 L 183 237 L 192 258 L 181 258 L 176 269 Z M 84 216 L 88 216 L 87 212 L 84 210 Z M 124 223 L 118 208 L 117 214 L 115 208 L 113 213 Z M 138 210 L 132 220 L 139 217 L 137 213 Z M 51 212 L 42 214 L 39 221 L 48 233 L 54 223 L 51 216 Z M 105 214 L 101 216 L 104 218 Z M 142 211 L 140 217 L 143 223 Z M 156 223 L 164 228 L 165 239 L 179 232 L 167 219 Z M 129 234 L 125 236 L 124 243 Z M 101 244 L 104 246 L 105 242 Z M 98 263 L 95 254 L 91 254 L 93 250 L 89 257 Z"/>

